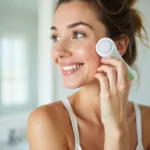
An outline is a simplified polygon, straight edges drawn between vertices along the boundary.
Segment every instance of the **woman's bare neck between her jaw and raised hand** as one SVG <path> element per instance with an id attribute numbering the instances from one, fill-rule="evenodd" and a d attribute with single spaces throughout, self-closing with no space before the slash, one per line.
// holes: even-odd
<path id="1" fill-rule="evenodd" d="M 74 106 L 82 119 L 101 125 L 99 83 L 81 87 L 77 93 Z"/>

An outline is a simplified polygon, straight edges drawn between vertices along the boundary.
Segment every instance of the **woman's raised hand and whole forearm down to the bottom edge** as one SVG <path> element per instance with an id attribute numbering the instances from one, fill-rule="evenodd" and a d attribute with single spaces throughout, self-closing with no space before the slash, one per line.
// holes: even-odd
<path id="1" fill-rule="evenodd" d="M 126 119 L 131 81 L 123 61 L 103 58 L 96 78 L 100 82 L 101 120 L 105 130 L 104 150 L 129 150 Z"/>

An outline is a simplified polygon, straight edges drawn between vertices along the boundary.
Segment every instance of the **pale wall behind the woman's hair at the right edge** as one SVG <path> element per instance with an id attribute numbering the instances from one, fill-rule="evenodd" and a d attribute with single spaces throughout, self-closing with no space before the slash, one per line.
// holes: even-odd
<path id="1" fill-rule="evenodd" d="M 136 7 L 142 12 L 144 18 L 144 26 L 147 30 L 148 36 L 150 38 L 150 1 L 149 0 L 140 0 Z M 150 45 L 150 41 L 149 45 Z M 130 94 L 130 100 L 136 101 L 143 105 L 150 106 L 150 48 L 146 48 L 141 43 L 138 43 L 138 59 L 136 62 L 137 66 L 140 69 L 141 81 L 140 85 L 136 92 Z"/>

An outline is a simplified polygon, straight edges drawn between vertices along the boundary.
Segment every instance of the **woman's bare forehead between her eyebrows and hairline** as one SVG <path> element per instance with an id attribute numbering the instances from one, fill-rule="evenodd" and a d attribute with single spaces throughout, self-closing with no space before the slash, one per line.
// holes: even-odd
<path id="1" fill-rule="evenodd" d="M 98 22 L 96 12 L 89 4 L 80 1 L 64 3 L 58 7 L 54 15 L 54 25 L 61 26 L 73 22 L 84 21 L 86 23 Z"/>

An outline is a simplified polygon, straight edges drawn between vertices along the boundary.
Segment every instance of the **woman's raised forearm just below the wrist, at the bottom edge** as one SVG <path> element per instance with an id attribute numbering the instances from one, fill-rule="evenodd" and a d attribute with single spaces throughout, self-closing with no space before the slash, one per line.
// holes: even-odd
<path id="1" fill-rule="evenodd" d="M 106 130 L 104 150 L 129 150 L 129 137 L 127 129 Z"/>

